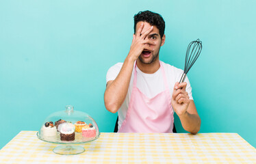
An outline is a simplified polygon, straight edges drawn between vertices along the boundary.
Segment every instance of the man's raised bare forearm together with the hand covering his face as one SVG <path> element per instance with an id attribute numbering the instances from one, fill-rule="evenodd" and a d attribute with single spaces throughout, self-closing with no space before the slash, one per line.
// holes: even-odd
<path id="1" fill-rule="evenodd" d="M 114 81 L 111 81 L 111 83 L 107 83 L 104 101 L 106 109 L 112 113 L 116 113 L 125 101 L 129 83 L 131 81 L 134 61 L 138 59 L 144 49 L 153 51 L 153 48 L 151 48 L 149 44 L 155 45 L 155 42 L 146 38 L 152 31 L 153 26 L 142 33 L 143 26 L 144 24 L 142 23 L 138 31 L 136 31 L 136 34 L 133 34 L 133 41 L 131 42 L 129 54 L 126 57 L 118 76 Z"/>

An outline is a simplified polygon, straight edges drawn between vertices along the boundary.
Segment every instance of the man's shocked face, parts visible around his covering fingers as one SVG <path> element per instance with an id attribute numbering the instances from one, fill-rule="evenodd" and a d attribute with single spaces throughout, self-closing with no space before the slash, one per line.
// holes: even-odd
<path id="1" fill-rule="evenodd" d="M 140 21 L 136 25 L 136 33 L 142 23 L 144 23 L 144 27 L 141 33 L 144 33 L 146 30 L 148 30 L 151 27 L 149 23 Z M 142 51 L 142 53 L 140 54 L 139 59 L 143 64 L 151 64 L 156 59 L 159 59 L 159 56 L 158 56 L 159 49 L 162 45 L 164 45 L 165 35 L 161 39 L 161 36 L 159 34 L 159 29 L 157 29 L 156 26 L 153 26 L 153 30 L 151 31 L 151 33 L 149 33 L 149 35 L 146 36 L 145 39 L 149 39 L 155 42 L 155 45 L 149 44 L 149 46 L 153 48 L 154 51 L 149 51 L 147 49 L 144 49 L 144 51 Z"/>

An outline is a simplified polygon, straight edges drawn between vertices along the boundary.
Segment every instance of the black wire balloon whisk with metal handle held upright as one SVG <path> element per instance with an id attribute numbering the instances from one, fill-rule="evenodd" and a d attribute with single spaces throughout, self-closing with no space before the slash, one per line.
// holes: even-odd
<path id="1" fill-rule="evenodd" d="M 179 83 L 183 83 L 185 81 L 185 77 L 188 74 L 188 71 L 193 66 L 194 62 L 196 62 L 196 59 L 199 57 L 200 53 L 202 51 L 202 41 L 199 39 L 190 42 L 188 44 L 187 52 L 185 53 L 185 66 L 184 66 L 184 72 L 181 76 L 181 80 Z"/>

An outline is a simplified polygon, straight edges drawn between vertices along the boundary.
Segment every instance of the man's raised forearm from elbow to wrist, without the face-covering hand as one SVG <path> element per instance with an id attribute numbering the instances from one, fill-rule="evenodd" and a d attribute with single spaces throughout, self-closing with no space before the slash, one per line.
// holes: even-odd
<path id="1" fill-rule="evenodd" d="M 134 61 L 135 59 L 128 55 L 116 79 L 110 85 L 107 84 L 104 94 L 105 107 L 112 113 L 116 113 L 125 100 Z"/>

